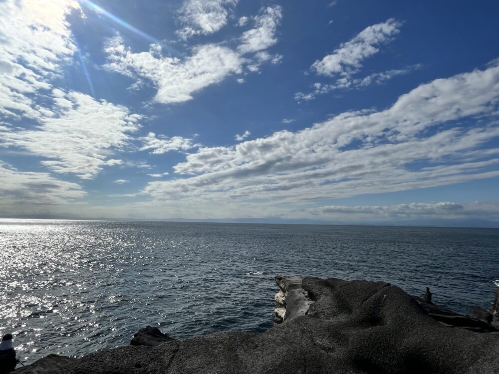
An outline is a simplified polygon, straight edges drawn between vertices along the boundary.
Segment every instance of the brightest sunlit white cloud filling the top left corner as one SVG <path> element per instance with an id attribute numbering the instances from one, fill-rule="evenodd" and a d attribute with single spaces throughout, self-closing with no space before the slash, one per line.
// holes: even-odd
<path id="1" fill-rule="evenodd" d="M 38 118 L 35 94 L 51 88 L 75 45 L 66 15 L 81 10 L 75 1 L 0 2 L 0 114 Z"/>

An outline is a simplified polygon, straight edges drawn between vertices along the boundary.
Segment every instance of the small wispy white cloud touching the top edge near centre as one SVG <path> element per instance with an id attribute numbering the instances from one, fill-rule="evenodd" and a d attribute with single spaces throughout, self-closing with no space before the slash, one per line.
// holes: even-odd
<path id="1" fill-rule="evenodd" d="M 180 10 L 184 28 L 177 34 L 187 39 L 217 32 L 227 24 L 227 18 L 237 4 L 238 0 L 185 0 Z"/>

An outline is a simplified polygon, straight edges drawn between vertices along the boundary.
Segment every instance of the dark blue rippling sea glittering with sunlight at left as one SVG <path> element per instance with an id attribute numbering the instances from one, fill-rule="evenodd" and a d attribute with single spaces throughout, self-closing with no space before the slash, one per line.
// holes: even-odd
<path id="1" fill-rule="evenodd" d="M 384 280 L 469 313 L 499 279 L 499 230 L 0 220 L 0 334 L 80 356 L 146 325 L 184 339 L 272 326 L 276 274 Z"/>

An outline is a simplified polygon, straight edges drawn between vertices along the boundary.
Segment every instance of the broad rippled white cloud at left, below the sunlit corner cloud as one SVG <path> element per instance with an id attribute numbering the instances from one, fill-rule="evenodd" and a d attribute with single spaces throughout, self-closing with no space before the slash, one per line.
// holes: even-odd
<path id="1" fill-rule="evenodd" d="M 48 169 L 83 179 L 120 164 L 108 156 L 128 146 L 128 134 L 138 130 L 140 116 L 79 92 L 54 90 L 53 95 L 50 115 L 40 115 L 39 125 L 30 130 L 0 130 L 0 146 L 26 149 L 47 158 L 41 163 Z"/>

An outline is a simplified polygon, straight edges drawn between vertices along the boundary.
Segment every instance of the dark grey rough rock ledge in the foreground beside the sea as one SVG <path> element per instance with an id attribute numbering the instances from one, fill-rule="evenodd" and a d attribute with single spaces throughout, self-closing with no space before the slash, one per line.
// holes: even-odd
<path id="1" fill-rule="evenodd" d="M 384 282 L 276 277 L 276 283 L 276 325 L 264 333 L 178 341 L 154 331 L 165 343 L 104 350 L 48 371 L 37 366 L 42 359 L 15 373 L 498 373 L 499 332 L 486 320 Z"/>

